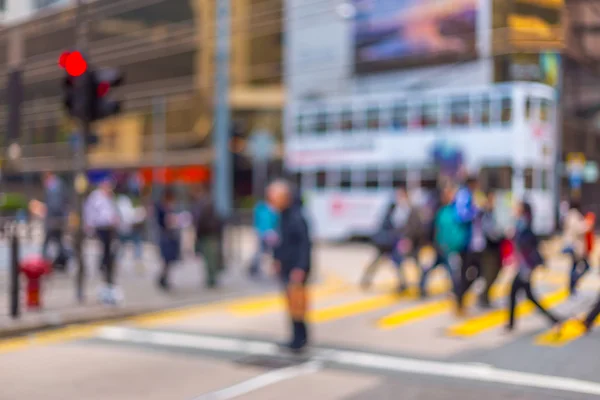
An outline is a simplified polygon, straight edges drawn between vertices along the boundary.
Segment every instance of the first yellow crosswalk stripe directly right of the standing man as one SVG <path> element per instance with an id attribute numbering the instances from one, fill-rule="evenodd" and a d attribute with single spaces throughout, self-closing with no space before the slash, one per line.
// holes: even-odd
<path id="1" fill-rule="evenodd" d="M 438 281 L 432 285 L 432 293 L 443 293 L 449 289 L 447 281 Z M 353 315 L 366 313 L 380 308 L 389 307 L 397 304 L 401 300 L 415 300 L 418 298 L 418 291 L 410 288 L 406 293 L 389 293 L 372 296 L 367 299 L 357 300 L 350 303 L 344 303 L 336 306 L 312 310 L 308 314 L 308 319 L 313 323 L 330 322 Z"/>

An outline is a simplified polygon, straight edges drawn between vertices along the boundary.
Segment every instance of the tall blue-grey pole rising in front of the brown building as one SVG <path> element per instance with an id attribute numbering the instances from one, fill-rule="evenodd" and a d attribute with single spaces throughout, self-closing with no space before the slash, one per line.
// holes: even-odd
<path id="1" fill-rule="evenodd" d="M 217 9 L 217 48 L 215 62 L 215 124 L 213 131 L 213 196 L 217 211 L 229 218 L 232 211 L 232 160 L 229 151 L 231 114 L 229 109 L 229 73 L 231 52 L 231 0 L 215 0 Z"/>

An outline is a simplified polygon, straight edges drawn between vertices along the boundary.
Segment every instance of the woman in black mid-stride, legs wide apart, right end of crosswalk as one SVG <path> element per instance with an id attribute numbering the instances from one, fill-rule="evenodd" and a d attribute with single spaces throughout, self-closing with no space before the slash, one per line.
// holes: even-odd
<path id="1" fill-rule="evenodd" d="M 531 205 L 527 202 L 520 203 L 517 207 L 517 225 L 513 237 L 518 271 L 510 289 L 509 320 L 506 327 L 508 331 L 512 331 L 515 327 L 517 295 L 521 290 L 525 291 L 527 298 L 550 320 L 553 326 L 558 326 L 560 322 L 558 317 L 539 303 L 531 290 L 531 275 L 536 267 L 544 263 L 538 250 L 538 239 L 531 229 L 532 219 Z"/>

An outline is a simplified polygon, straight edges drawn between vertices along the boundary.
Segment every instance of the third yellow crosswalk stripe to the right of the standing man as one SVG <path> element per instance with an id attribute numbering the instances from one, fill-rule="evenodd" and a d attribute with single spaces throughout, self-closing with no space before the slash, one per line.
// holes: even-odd
<path id="1" fill-rule="evenodd" d="M 565 301 L 568 297 L 569 292 L 567 290 L 559 290 L 550 295 L 543 296 L 540 300 L 540 303 L 546 308 L 552 308 L 555 305 Z M 532 302 L 524 301 L 517 305 L 515 309 L 516 317 L 520 318 L 529 315 L 533 313 L 535 309 L 536 307 Z M 448 328 L 448 335 L 461 337 L 475 336 L 485 331 L 503 326 L 507 322 L 508 310 L 503 308 L 487 312 L 483 315 L 479 315 L 477 317 L 473 317 L 464 322 L 453 325 L 450 328 Z"/>

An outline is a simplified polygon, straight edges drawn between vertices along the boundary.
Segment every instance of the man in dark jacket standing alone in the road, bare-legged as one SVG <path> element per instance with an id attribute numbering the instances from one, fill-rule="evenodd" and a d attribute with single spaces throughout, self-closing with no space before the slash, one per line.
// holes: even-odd
<path id="1" fill-rule="evenodd" d="M 288 299 L 293 337 L 288 347 L 301 351 L 308 342 L 305 321 L 306 289 L 310 276 L 312 243 L 302 213 L 302 201 L 285 181 L 276 181 L 267 189 L 267 201 L 280 212 L 279 242 L 274 248 L 275 270 Z"/>

